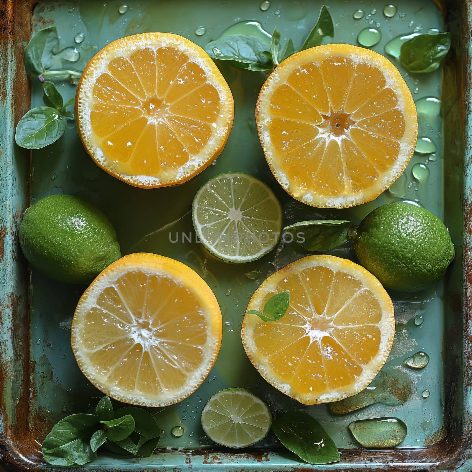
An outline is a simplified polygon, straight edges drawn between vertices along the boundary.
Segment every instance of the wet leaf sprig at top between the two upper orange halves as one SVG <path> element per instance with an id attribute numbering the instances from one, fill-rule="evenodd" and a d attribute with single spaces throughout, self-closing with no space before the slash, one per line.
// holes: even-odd
<path id="1" fill-rule="evenodd" d="M 323 38 L 334 38 L 334 23 L 328 8 L 323 5 L 316 24 L 298 51 L 319 46 Z M 268 71 L 294 54 L 293 41 L 289 38 L 284 46 L 280 43 L 277 26 L 270 37 L 270 43 L 245 34 L 223 35 L 205 46 L 205 51 L 213 58 L 226 60 L 232 66 L 253 71 Z"/>

